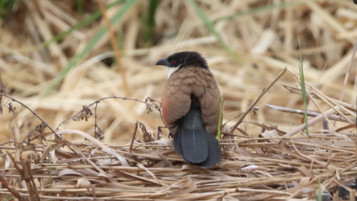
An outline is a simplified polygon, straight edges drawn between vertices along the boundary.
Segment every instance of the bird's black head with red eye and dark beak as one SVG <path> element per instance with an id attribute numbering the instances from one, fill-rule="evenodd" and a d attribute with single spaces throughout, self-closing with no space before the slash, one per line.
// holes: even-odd
<path id="1" fill-rule="evenodd" d="M 205 58 L 203 58 L 198 52 L 190 51 L 171 54 L 169 57 L 157 61 L 156 65 L 164 65 L 167 68 L 174 68 L 176 70 L 187 66 L 196 66 L 208 69 Z"/>

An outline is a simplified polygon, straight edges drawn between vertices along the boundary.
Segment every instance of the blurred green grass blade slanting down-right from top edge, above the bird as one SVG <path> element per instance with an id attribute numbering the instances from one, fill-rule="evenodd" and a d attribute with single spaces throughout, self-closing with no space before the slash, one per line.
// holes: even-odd
<path id="1" fill-rule="evenodd" d="M 221 44 L 221 46 L 226 49 L 226 51 L 230 54 L 230 56 L 235 59 L 237 63 L 241 63 L 240 58 L 238 55 L 236 55 L 232 49 L 227 45 L 227 43 L 222 39 L 221 35 L 218 34 L 216 31 L 215 27 L 213 26 L 213 23 L 207 18 L 206 14 L 203 13 L 203 11 L 200 9 L 196 1 L 194 0 L 187 0 L 187 2 L 192 6 L 192 8 L 196 11 L 196 14 L 201 18 L 207 29 L 210 31 L 210 33 L 216 37 L 218 43 Z"/>

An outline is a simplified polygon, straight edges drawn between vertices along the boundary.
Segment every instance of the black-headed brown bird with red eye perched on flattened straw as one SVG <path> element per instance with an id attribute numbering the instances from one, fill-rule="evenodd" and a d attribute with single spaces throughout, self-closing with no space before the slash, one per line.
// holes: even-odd
<path id="1" fill-rule="evenodd" d="M 162 119 L 174 148 L 190 164 L 213 167 L 221 161 L 221 147 L 215 137 L 221 107 L 221 93 L 207 61 L 198 52 L 184 51 L 160 59 L 167 81 L 161 96 Z"/>

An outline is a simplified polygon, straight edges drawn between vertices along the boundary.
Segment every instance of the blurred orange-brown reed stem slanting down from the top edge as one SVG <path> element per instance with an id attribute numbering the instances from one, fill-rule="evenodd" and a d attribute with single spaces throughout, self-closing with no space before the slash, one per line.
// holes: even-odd
<path id="1" fill-rule="evenodd" d="M 99 8 L 100 8 L 100 11 L 102 12 L 102 17 L 105 21 L 105 24 L 107 26 L 107 29 L 108 29 L 108 33 L 109 33 L 109 36 L 110 36 L 110 43 L 112 45 L 112 48 L 113 48 L 113 51 L 114 51 L 114 55 L 115 55 L 115 60 L 116 60 L 116 63 L 118 65 L 118 69 L 119 69 L 119 72 L 120 72 L 120 75 L 121 75 L 121 79 L 122 79 L 122 82 L 123 82 L 123 87 L 124 87 L 124 90 L 125 90 L 125 94 L 126 96 L 130 96 L 130 91 L 129 91 L 129 88 L 128 88 L 128 83 L 127 83 L 127 80 L 126 80 L 126 76 L 125 76 L 125 69 L 121 63 L 121 53 L 120 53 L 120 50 L 118 48 L 118 45 L 116 43 L 116 40 L 115 40 L 115 34 L 114 34 L 114 30 L 112 29 L 112 26 L 110 24 L 110 20 L 107 16 L 107 13 L 106 13 L 106 9 L 105 9 L 105 5 L 103 3 L 102 0 L 97 0 L 98 2 L 98 5 L 99 5 Z"/>

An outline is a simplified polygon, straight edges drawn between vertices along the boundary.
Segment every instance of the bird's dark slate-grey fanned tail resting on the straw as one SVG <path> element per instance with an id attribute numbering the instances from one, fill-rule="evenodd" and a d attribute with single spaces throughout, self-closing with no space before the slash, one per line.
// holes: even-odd
<path id="1" fill-rule="evenodd" d="M 221 161 L 221 148 L 212 133 L 207 133 L 201 109 L 191 107 L 179 119 L 174 147 L 185 161 L 193 165 L 212 167 Z"/>

